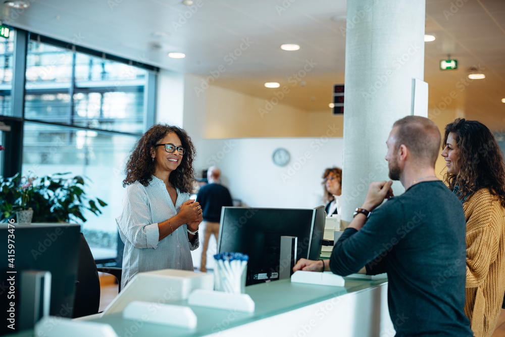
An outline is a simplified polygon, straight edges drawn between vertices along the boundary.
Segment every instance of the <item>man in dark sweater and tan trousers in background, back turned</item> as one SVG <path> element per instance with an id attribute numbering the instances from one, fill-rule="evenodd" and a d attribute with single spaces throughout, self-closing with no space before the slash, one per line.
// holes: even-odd
<path id="1" fill-rule="evenodd" d="M 216 237 L 216 242 L 219 236 L 219 222 L 221 218 L 221 208 L 223 206 L 233 206 L 231 195 L 228 188 L 219 183 L 221 171 L 212 166 L 207 171 L 208 184 L 201 186 L 196 196 L 196 200 L 203 211 L 204 221 L 204 242 L 202 243 L 200 271 L 206 272 L 207 268 L 207 248 L 209 247 L 209 239 L 211 234 Z"/>

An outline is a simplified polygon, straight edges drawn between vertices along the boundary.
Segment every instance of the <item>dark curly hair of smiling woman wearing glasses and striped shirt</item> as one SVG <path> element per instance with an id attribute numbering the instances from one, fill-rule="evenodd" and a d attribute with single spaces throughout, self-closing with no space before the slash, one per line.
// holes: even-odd
<path id="1" fill-rule="evenodd" d="M 137 141 L 126 163 L 126 179 L 123 180 L 123 187 L 135 181 L 147 186 L 149 182 L 153 180 L 155 163 L 151 158 L 151 149 L 171 132 L 177 134 L 186 152 L 182 156 L 179 167 L 170 174 L 169 181 L 181 192 L 190 193 L 192 191 L 195 180 L 193 160 L 196 151 L 186 131 L 180 127 L 167 124 L 156 124 L 151 126 Z"/>

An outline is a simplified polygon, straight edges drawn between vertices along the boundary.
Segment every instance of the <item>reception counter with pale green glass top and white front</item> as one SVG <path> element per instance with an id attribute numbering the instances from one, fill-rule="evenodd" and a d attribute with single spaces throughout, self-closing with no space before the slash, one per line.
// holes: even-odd
<path id="1" fill-rule="evenodd" d="M 194 330 L 125 320 L 113 314 L 93 321 L 110 324 L 118 336 L 393 336 L 387 311 L 387 279 L 346 278 L 344 287 L 291 283 L 289 279 L 250 285 L 253 313 L 189 306 Z M 188 306 L 187 301 L 171 302 Z"/>

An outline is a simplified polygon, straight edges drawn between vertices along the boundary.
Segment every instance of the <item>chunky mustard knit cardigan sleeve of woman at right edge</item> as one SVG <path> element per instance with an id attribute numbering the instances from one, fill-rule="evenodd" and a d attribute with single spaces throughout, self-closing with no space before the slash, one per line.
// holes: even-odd
<path id="1" fill-rule="evenodd" d="M 496 203 L 496 202 L 494 202 Z M 467 281 L 466 287 L 478 287 L 497 257 L 501 232 L 493 212 L 493 196 L 489 190 L 477 191 L 463 205 L 467 219 Z"/>

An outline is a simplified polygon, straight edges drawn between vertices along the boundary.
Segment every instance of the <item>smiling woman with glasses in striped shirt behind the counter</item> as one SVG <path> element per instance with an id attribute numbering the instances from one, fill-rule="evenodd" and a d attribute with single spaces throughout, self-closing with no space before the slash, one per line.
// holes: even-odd
<path id="1" fill-rule="evenodd" d="M 189 199 L 195 149 L 186 131 L 154 125 L 136 143 L 126 164 L 123 209 L 116 219 L 125 244 L 121 288 L 137 273 L 193 270 L 201 207 Z"/>

